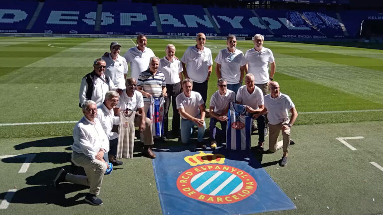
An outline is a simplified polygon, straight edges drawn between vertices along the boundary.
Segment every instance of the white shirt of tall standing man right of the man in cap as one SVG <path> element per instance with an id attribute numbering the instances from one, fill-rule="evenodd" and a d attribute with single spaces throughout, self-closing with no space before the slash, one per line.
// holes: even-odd
<path id="1" fill-rule="evenodd" d="M 124 58 L 127 63 L 130 63 L 130 76 L 138 80 L 140 73 L 149 68 L 150 58 L 154 56 L 154 52 L 148 47 L 145 47 L 143 52 L 137 46 L 126 51 Z"/>

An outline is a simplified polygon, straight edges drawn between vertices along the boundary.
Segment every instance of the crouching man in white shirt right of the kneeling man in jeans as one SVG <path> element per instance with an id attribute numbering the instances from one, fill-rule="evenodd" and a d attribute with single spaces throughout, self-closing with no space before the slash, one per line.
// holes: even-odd
<path id="1" fill-rule="evenodd" d="M 210 148 L 217 147 L 217 140 L 224 140 L 226 138 L 226 125 L 227 125 L 227 112 L 229 104 L 235 102 L 235 93 L 227 89 L 227 82 L 220 78 L 217 81 L 218 90 L 210 98 Z M 221 129 L 215 127 L 219 122 Z"/>

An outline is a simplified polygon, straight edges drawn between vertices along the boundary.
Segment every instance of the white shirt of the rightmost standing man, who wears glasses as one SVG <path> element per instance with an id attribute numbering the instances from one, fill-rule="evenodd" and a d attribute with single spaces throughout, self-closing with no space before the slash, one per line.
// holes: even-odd
<path id="1" fill-rule="evenodd" d="M 244 64 L 248 63 L 248 73 L 254 75 L 255 84 L 269 82 L 269 63 L 274 62 L 274 56 L 270 49 L 262 47 L 260 51 L 254 48 L 246 51 Z"/>

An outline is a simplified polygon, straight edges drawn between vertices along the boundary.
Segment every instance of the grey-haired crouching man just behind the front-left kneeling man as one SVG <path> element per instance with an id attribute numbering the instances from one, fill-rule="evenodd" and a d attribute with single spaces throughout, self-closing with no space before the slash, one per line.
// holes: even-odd
<path id="1" fill-rule="evenodd" d="M 97 118 L 100 120 L 102 128 L 109 139 L 109 152 L 104 155 L 104 160 L 112 163 L 114 166 L 122 165 L 123 162 L 116 159 L 118 133 L 112 132 L 113 125 L 120 123 L 120 118 L 114 115 L 113 108 L 116 108 L 120 96 L 116 91 L 108 91 L 105 94 L 105 101 L 97 110 Z"/>

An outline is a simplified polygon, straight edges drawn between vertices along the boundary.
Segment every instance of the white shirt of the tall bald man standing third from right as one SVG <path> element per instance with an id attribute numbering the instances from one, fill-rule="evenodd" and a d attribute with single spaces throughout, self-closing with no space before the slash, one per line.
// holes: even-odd
<path id="1" fill-rule="evenodd" d="M 200 51 L 195 46 L 189 46 L 181 61 L 186 64 L 189 78 L 197 83 L 206 81 L 208 67 L 213 65 L 213 58 L 209 48 L 203 47 Z"/>

